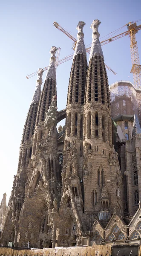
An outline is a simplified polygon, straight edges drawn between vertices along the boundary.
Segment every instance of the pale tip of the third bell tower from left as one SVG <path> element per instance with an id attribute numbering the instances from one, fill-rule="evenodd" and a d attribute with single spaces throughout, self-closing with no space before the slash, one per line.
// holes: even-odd
<path id="1" fill-rule="evenodd" d="M 79 53 L 83 53 L 83 55 L 86 56 L 86 48 L 85 48 L 85 44 L 84 44 L 84 33 L 83 33 L 83 26 L 85 26 L 86 23 L 84 21 L 79 21 L 78 22 L 78 26 L 76 27 L 76 29 L 78 30 L 78 34 L 77 34 L 77 43 L 76 43 L 76 47 L 75 47 L 75 53 L 74 56 L 79 54 Z"/>

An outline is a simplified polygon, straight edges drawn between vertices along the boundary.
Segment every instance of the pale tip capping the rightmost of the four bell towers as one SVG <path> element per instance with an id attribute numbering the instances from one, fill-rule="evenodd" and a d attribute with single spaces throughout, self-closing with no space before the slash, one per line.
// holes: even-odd
<path id="1" fill-rule="evenodd" d="M 97 56 L 101 56 L 104 59 L 104 55 L 102 52 L 102 48 L 101 48 L 101 43 L 99 41 L 99 32 L 98 32 L 98 27 L 101 24 L 100 20 L 93 20 L 92 24 L 91 24 L 91 29 L 92 29 L 92 47 L 91 47 L 91 51 L 90 51 L 90 55 L 89 55 L 89 60 L 97 55 Z"/>

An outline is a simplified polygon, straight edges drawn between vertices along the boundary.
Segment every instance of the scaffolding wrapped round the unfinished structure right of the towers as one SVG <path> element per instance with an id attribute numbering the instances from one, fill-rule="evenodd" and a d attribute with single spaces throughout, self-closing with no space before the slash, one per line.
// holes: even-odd
<path id="1" fill-rule="evenodd" d="M 141 121 L 141 89 L 130 81 L 117 81 L 109 87 L 112 117 L 137 114 Z"/>

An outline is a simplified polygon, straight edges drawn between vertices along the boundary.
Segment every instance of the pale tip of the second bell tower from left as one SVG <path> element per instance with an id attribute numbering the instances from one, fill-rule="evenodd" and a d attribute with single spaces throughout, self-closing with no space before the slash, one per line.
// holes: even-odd
<path id="1" fill-rule="evenodd" d="M 49 67 L 46 73 L 46 79 L 48 78 L 52 78 L 53 80 L 56 81 L 56 70 L 55 70 L 55 61 L 56 61 L 56 56 L 55 53 L 57 52 L 58 48 L 55 46 L 52 46 L 52 48 L 50 49 L 50 60 L 49 60 Z M 45 79 L 45 80 L 46 80 Z"/>

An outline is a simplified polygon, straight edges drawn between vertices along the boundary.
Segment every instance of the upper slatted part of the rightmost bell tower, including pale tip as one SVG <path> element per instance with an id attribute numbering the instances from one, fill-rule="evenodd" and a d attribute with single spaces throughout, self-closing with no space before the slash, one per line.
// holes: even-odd
<path id="1" fill-rule="evenodd" d="M 92 47 L 89 55 L 89 67 L 87 72 L 85 102 L 98 102 L 110 106 L 109 86 L 104 64 L 104 55 L 99 41 L 99 20 L 93 20 Z"/>

